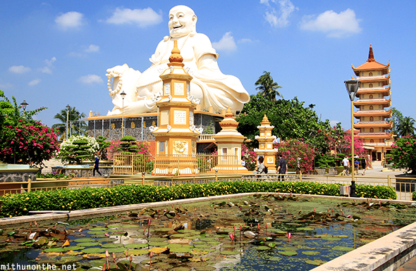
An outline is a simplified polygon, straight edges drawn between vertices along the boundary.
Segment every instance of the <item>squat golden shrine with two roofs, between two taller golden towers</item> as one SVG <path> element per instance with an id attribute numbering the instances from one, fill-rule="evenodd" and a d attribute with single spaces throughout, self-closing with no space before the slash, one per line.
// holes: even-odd
<path id="1" fill-rule="evenodd" d="M 247 168 L 241 165 L 241 144 L 245 137 L 237 131 L 238 122 L 229 107 L 219 125 L 222 130 L 214 136 L 218 146 L 218 161 L 212 172 L 218 170 L 219 173 L 247 173 Z"/>

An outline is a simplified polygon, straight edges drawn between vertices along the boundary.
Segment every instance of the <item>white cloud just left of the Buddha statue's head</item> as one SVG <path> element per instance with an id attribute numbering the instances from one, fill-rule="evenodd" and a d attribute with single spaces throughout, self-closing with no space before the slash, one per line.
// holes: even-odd
<path id="1" fill-rule="evenodd" d="M 113 15 L 106 20 L 114 25 L 136 24 L 139 27 L 157 25 L 162 22 L 161 14 L 156 13 L 152 8 L 130 9 L 116 8 Z"/>

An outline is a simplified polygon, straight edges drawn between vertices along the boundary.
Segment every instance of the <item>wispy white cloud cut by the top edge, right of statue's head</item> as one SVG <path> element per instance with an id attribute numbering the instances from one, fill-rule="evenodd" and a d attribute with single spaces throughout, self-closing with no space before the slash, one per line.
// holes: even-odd
<path id="1" fill-rule="evenodd" d="M 271 6 L 269 3 L 278 4 L 279 2 L 279 11 Z M 267 6 L 266 14 L 264 19 L 273 27 L 286 27 L 289 25 L 288 18 L 293 13 L 293 11 L 298 10 L 290 0 L 260 0 L 260 4 L 265 4 Z"/>

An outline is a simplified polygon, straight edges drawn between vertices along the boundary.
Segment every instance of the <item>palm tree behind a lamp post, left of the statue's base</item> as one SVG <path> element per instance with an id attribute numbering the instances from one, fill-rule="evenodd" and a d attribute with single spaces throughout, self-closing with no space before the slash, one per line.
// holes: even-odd
<path id="1" fill-rule="evenodd" d="M 62 109 L 57 113 L 54 118 L 60 120 L 62 123 L 56 123 L 52 125 L 52 128 L 58 130 L 59 139 L 65 138 L 66 130 L 66 109 Z M 69 107 L 68 109 L 68 137 L 71 135 L 86 135 L 87 124 L 82 120 L 85 118 L 85 113 L 80 113 L 75 107 Z"/>

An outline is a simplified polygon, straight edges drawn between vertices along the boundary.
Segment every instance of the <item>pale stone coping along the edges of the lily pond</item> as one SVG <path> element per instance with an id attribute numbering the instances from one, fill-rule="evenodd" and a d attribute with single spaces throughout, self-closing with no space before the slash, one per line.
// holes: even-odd
<path id="1" fill-rule="evenodd" d="M 0 218 L 0 225 L 19 224 L 24 222 L 42 221 L 42 220 L 59 220 L 70 218 L 82 218 L 85 215 L 99 215 L 111 213 L 120 213 L 137 208 L 154 208 L 159 206 L 166 206 L 171 204 L 185 204 L 196 203 L 207 200 L 220 200 L 224 198 L 236 198 L 243 196 L 252 196 L 255 194 L 280 194 L 288 195 L 288 193 L 243 193 L 230 194 L 221 196 L 205 196 L 202 198 L 186 198 L 175 201 L 159 201 L 154 203 L 139 203 L 125 206 L 113 206 L 104 208 L 93 208 L 85 210 L 73 210 L 70 213 L 47 213 L 39 215 L 25 215 L 13 218 Z M 344 196 L 322 196 L 322 195 L 308 195 L 308 194 L 292 194 L 293 196 L 306 196 L 312 198 L 337 198 L 343 200 L 365 200 L 367 198 L 350 198 Z M 389 199 L 371 198 L 372 201 L 391 201 L 395 203 L 415 203 L 415 201 L 398 201 Z M 355 250 L 345 253 L 343 256 L 335 258 L 334 260 L 324 263 L 319 267 L 315 267 L 310 271 L 393 271 L 397 270 L 400 265 L 403 265 L 413 256 L 416 255 L 416 222 L 397 229 L 384 237 L 372 241 L 369 244 L 355 248 Z"/>

